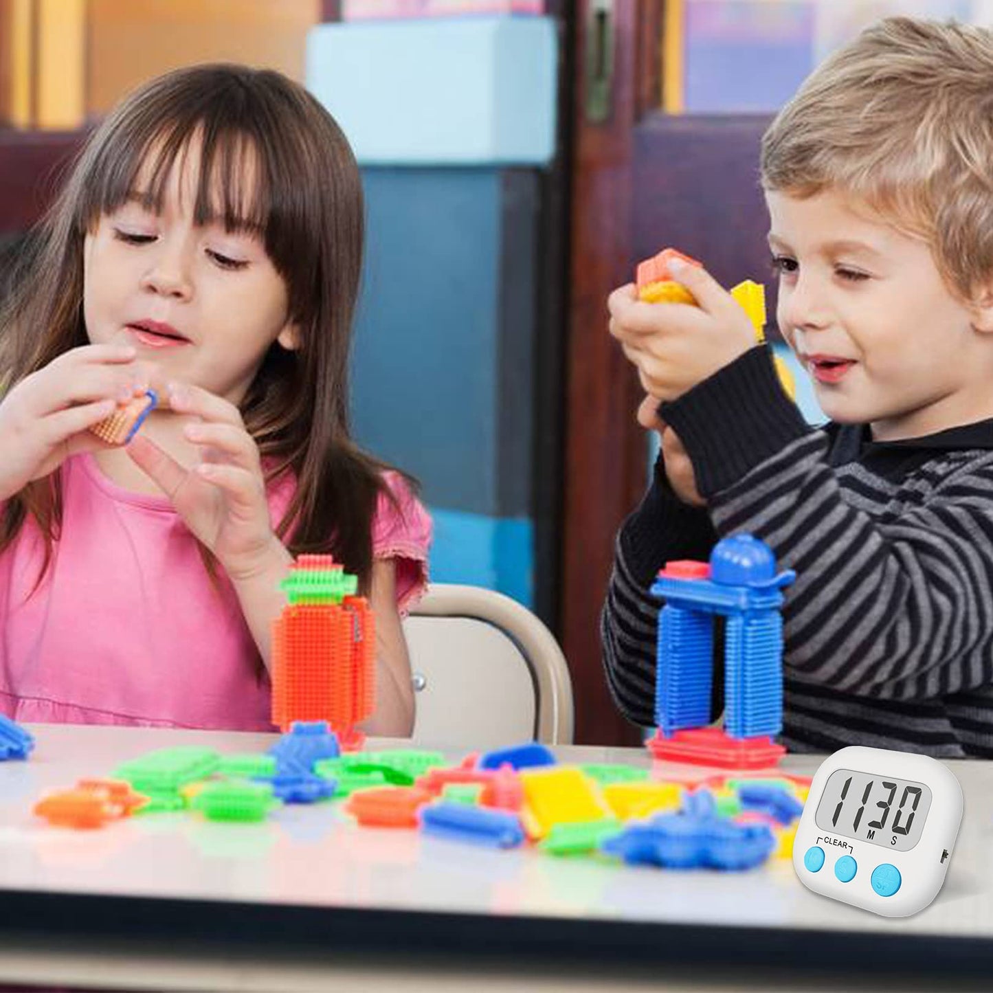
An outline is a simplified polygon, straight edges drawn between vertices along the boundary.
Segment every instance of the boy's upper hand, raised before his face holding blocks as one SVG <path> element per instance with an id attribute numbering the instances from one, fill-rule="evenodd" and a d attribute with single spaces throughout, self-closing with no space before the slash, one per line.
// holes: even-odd
<path id="1" fill-rule="evenodd" d="M 698 307 L 641 303 L 633 283 L 615 290 L 607 303 L 611 334 L 656 400 L 676 399 L 756 344 L 748 315 L 713 276 L 676 263 L 670 272 Z"/>

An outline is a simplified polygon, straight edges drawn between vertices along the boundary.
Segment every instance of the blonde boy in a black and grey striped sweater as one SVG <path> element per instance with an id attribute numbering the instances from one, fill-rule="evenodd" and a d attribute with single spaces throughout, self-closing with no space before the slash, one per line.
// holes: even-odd
<path id="1" fill-rule="evenodd" d="M 993 32 L 863 32 L 780 111 L 762 183 L 780 331 L 830 423 L 706 272 L 677 276 L 699 308 L 612 294 L 662 437 L 604 610 L 615 700 L 653 723 L 655 570 L 748 531 L 797 573 L 790 750 L 993 757 Z"/>

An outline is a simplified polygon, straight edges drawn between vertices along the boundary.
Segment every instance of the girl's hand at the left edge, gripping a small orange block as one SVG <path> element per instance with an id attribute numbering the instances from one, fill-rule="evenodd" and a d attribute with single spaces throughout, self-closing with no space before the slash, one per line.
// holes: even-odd
<path id="1" fill-rule="evenodd" d="M 133 348 L 85 345 L 25 376 L 0 402 L 0 499 L 108 446 L 87 430 L 148 389 Z"/>

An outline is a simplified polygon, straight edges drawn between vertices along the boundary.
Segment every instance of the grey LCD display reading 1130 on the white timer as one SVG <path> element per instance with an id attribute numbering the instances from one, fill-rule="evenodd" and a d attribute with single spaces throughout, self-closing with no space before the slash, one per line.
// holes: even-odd
<path id="1" fill-rule="evenodd" d="M 907 852 L 921 840 L 930 801 L 922 782 L 836 769 L 814 820 L 822 831 Z"/>

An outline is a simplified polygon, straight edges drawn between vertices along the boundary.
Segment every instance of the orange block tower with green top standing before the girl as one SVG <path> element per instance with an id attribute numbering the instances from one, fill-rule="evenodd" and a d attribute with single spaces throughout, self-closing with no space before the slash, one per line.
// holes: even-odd
<path id="1" fill-rule="evenodd" d="M 280 584 L 288 603 L 273 622 L 272 723 L 327 721 L 345 750 L 375 706 L 375 629 L 358 580 L 330 555 L 301 555 Z"/>

